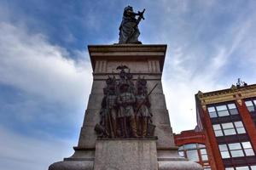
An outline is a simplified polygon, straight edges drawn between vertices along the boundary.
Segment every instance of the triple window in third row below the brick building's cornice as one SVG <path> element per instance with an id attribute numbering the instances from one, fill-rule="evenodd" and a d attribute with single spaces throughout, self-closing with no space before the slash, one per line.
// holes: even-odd
<path id="1" fill-rule="evenodd" d="M 222 158 L 254 156 L 254 151 L 250 142 L 219 144 L 218 145 Z"/>

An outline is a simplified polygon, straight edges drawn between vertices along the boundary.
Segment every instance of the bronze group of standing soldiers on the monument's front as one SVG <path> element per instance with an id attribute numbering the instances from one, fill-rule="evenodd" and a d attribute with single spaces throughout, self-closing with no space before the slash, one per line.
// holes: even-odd
<path id="1" fill-rule="evenodd" d="M 152 113 L 148 95 L 147 81 L 137 78 L 136 88 L 132 74 L 125 65 L 119 65 L 119 80 L 108 77 L 103 88 L 101 122 L 95 130 L 99 138 L 138 138 L 154 135 Z M 129 72 L 125 71 L 129 70 Z"/>

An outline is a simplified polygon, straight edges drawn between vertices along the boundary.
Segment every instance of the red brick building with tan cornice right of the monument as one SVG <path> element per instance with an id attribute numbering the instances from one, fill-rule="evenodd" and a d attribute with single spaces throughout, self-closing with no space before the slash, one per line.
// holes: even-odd
<path id="1" fill-rule="evenodd" d="M 199 91 L 195 104 L 197 127 L 175 135 L 180 155 L 205 169 L 256 170 L 256 84 Z"/>

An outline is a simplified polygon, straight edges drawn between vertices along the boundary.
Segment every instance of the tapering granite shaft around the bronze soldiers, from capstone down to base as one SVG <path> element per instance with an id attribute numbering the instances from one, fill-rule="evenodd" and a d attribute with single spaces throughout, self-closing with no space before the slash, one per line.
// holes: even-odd
<path id="1" fill-rule="evenodd" d="M 119 71 L 116 70 L 119 65 L 129 67 L 134 83 L 137 77 L 144 77 L 148 82 L 148 91 L 156 83 L 158 84 L 149 96 L 153 123 L 156 125 L 154 135 L 159 138 L 156 142 L 157 149 L 174 146 L 172 127 L 161 83 L 166 45 L 96 45 L 89 46 L 89 52 L 93 68 L 93 83 L 78 146 L 96 147 L 94 127 L 100 121 L 103 88 L 106 86 L 105 81 L 108 76 L 114 75 L 119 79 Z"/>

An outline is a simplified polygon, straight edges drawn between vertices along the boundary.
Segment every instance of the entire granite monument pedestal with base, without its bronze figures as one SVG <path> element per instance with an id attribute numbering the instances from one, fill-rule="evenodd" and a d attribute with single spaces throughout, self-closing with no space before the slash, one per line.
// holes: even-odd
<path id="1" fill-rule="evenodd" d="M 55 162 L 49 170 L 201 170 L 202 167 L 178 156 L 172 127 L 166 109 L 161 77 L 165 44 L 91 45 L 88 47 L 93 68 L 93 84 L 75 153 Z M 147 81 L 147 88 L 156 88 L 148 96 L 158 139 L 97 139 L 96 124 L 101 121 L 103 88 L 108 77 L 119 79 L 119 65 L 126 65 L 132 80 Z M 84 87 L 86 88 L 86 87 Z"/>

